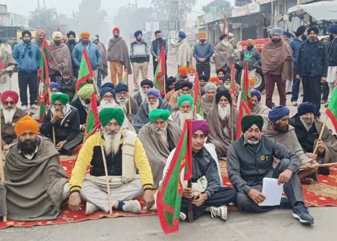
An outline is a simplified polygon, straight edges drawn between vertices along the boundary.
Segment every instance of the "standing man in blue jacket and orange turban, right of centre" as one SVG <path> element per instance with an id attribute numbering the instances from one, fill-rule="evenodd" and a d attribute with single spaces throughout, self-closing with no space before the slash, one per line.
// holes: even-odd
<path id="1" fill-rule="evenodd" d="M 193 56 L 197 60 L 197 72 L 210 78 L 210 59 L 213 55 L 213 47 L 206 41 L 206 32 L 199 32 L 199 43 L 194 47 Z"/>

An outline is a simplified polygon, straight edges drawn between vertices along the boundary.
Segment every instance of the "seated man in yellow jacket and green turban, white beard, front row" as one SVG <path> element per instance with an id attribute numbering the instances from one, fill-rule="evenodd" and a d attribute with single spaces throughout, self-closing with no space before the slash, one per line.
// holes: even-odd
<path id="1" fill-rule="evenodd" d="M 103 137 L 100 132 L 93 134 L 79 151 L 69 181 L 69 208 L 80 209 L 81 198 L 87 201 L 87 215 L 99 209 L 108 212 L 111 208 L 102 161 L 104 152 L 112 208 L 139 213 L 140 203 L 132 199 L 143 195 L 146 207 L 150 209 L 154 203 L 153 176 L 142 143 L 135 133 L 121 130 L 124 120 L 122 109 L 105 108 L 99 112 L 99 120 L 104 128 Z M 88 166 L 90 174 L 86 174 Z"/>

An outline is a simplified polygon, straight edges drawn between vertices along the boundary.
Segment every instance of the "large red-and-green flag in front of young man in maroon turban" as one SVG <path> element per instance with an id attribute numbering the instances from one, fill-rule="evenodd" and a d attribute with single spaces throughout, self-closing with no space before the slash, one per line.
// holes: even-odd
<path id="1" fill-rule="evenodd" d="M 157 211 L 164 233 L 179 230 L 184 180 L 192 178 L 192 124 L 186 120 L 182 135 L 157 192 Z"/>

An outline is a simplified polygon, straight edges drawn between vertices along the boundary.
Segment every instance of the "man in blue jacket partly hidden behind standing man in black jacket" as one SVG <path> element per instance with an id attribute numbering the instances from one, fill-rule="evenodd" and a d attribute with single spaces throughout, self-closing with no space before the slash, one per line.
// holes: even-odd
<path id="1" fill-rule="evenodd" d="M 300 26 L 296 30 L 296 38 L 291 40 L 289 43 L 290 48 L 292 49 L 292 64 L 294 73 L 297 63 L 297 56 L 298 52 L 300 50 L 300 46 L 303 43 L 303 41 L 306 41 L 308 33 L 306 32 L 306 26 Z M 298 99 L 298 92 L 300 90 L 300 82 L 301 80 L 296 80 L 294 76 L 294 80 L 292 82 L 292 88 L 291 88 L 291 104 L 293 106 L 297 106 L 297 99 Z"/>

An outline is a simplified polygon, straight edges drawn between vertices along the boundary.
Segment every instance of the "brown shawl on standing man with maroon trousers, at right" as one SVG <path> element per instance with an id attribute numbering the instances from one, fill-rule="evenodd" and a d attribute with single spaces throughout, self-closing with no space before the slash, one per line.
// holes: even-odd
<path id="1" fill-rule="evenodd" d="M 291 79 L 292 49 L 284 40 L 274 43 L 269 39 L 262 48 L 261 62 L 263 74 L 273 72 L 282 66 L 282 80 Z"/>

